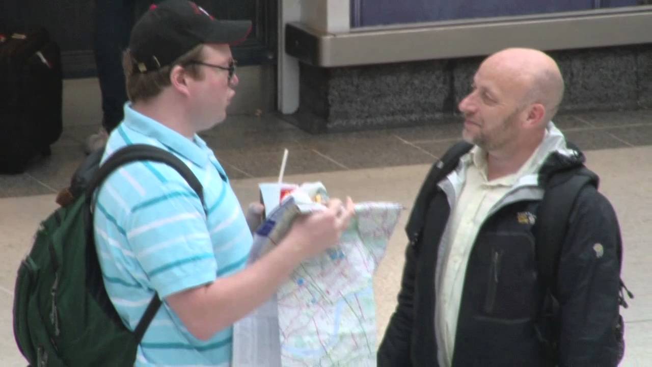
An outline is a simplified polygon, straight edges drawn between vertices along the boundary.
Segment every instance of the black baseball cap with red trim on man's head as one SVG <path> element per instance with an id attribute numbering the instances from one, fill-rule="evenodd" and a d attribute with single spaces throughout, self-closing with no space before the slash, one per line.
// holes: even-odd
<path id="1" fill-rule="evenodd" d="M 199 44 L 238 44 L 250 31 L 248 20 L 217 20 L 192 1 L 163 1 L 152 5 L 131 31 L 134 72 L 170 65 Z"/>

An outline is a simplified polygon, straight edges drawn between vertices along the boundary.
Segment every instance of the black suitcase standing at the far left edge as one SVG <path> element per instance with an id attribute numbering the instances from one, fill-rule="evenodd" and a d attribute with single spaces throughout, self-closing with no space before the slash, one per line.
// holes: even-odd
<path id="1" fill-rule="evenodd" d="M 0 33 L 0 173 L 50 155 L 61 135 L 61 50 L 48 31 Z"/>

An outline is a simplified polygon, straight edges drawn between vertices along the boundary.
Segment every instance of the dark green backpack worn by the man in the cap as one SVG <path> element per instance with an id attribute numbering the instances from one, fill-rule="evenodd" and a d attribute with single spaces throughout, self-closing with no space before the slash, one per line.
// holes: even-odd
<path id="1" fill-rule="evenodd" d="M 14 336 L 31 366 L 133 366 L 138 343 L 160 307 L 160 298 L 153 296 L 131 332 L 106 294 L 91 205 L 95 189 L 111 172 L 134 161 L 165 163 L 185 178 L 203 204 L 200 182 L 175 155 L 137 144 L 115 152 L 98 168 L 101 153 L 84 163 L 87 172 L 82 173 L 90 180 L 77 177 L 78 170 L 72 180 L 78 191 L 74 201 L 41 223 L 18 269 Z"/>

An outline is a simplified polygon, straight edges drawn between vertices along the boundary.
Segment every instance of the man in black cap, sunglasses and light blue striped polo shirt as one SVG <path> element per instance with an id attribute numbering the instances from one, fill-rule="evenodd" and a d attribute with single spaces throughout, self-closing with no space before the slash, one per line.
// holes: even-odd
<path id="1" fill-rule="evenodd" d="M 111 302 L 133 330 L 152 296 L 164 300 L 137 366 L 229 366 L 231 325 L 301 261 L 333 246 L 353 214 L 350 199 L 342 211 L 342 202 L 331 200 L 244 268 L 250 223 L 196 133 L 226 118 L 238 84 L 229 45 L 249 30 L 249 22 L 215 20 L 186 0 L 153 5 L 132 30 L 124 58 L 130 103 L 102 161 L 130 144 L 164 148 L 197 176 L 205 202 L 176 171 L 154 162 L 126 165 L 98 190 L 95 240 Z"/>

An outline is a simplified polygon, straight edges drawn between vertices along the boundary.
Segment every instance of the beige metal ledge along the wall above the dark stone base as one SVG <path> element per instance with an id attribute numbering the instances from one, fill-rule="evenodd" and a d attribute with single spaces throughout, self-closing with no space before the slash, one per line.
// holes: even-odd
<path id="1" fill-rule="evenodd" d="M 652 6 L 355 29 L 331 34 L 286 25 L 286 52 L 319 67 L 486 56 L 507 47 L 539 50 L 652 42 Z"/>

